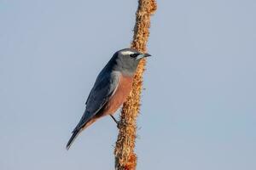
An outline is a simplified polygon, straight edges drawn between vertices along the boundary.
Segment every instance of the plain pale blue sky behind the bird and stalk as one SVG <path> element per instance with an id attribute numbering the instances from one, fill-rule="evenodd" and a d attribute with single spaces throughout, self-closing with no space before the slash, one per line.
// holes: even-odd
<path id="1" fill-rule="evenodd" d="M 256 169 L 255 8 L 158 1 L 137 169 Z M 65 146 L 97 74 L 129 47 L 136 10 L 137 0 L 0 0 L 1 170 L 113 169 L 108 116 Z"/>

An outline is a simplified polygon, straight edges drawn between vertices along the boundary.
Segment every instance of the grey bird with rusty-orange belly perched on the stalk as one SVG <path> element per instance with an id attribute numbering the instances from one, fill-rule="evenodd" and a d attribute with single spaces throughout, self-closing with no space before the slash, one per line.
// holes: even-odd
<path id="1" fill-rule="evenodd" d="M 151 55 L 133 48 L 124 48 L 113 54 L 96 77 L 96 82 L 85 102 L 84 114 L 67 142 L 67 150 L 79 133 L 102 116 L 111 116 L 113 121 L 118 123 L 113 114 L 131 93 L 133 77 L 139 61 L 149 56 Z"/>

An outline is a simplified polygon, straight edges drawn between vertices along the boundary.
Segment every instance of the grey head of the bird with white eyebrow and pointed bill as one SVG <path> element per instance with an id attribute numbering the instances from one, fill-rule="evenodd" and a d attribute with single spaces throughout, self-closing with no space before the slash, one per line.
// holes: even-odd
<path id="1" fill-rule="evenodd" d="M 113 54 L 108 66 L 112 67 L 112 71 L 120 71 L 123 75 L 132 76 L 137 70 L 139 61 L 148 56 L 151 55 L 140 53 L 132 48 L 125 48 Z"/>

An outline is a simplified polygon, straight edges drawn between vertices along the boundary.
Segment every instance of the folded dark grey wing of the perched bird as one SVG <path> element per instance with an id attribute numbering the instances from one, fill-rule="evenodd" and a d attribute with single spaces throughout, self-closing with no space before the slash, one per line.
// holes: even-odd
<path id="1" fill-rule="evenodd" d="M 90 121 L 90 118 L 95 116 L 97 112 L 102 109 L 116 90 L 119 79 L 120 74 L 118 72 L 106 73 L 102 71 L 100 73 L 86 101 L 86 110 L 84 111 L 84 115 L 74 130 L 84 127 L 84 124 Z"/>

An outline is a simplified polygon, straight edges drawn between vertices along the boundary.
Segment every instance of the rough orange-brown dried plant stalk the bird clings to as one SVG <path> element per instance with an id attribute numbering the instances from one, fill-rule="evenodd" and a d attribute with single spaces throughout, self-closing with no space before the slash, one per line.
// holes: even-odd
<path id="1" fill-rule="evenodd" d="M 131 48 L 143 53 L 149 36 L 150 16 L 156 10 L 155 0 L 138 0 L 136 14 L 136 25 Z M 140 99 L 143 89 L 143 71 L 146 60 L 141 60 L 137 67 L 137 73 L 133 80 L 131 94 L 127 98 L 121 111 L 119 122 L 119 136 L 114 150 L 116 170 L 135 170 L 137 167 L 137 156 L 134 152 L 135 139 L 137 136 L 137 116 L 140 111 Z"/>

